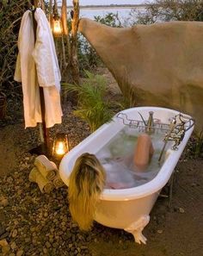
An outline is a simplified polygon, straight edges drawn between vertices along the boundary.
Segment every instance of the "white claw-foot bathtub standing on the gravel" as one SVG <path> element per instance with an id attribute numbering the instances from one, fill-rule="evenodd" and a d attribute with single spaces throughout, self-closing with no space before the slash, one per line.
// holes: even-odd
<path id="1" fill-rule="evenodd" d="M 144 119 L 147 120 L 149 111 L 153 111 L 154 118 L 160 119 L 163 123 L 169 123 L 169 119 L 180 113 L 172 109 L 155 107 L 126 109 L 122 111 L 122 113 L 126 114 L 129 119 L 141 120 L 138 114 L 139 112 Z M 114 116 L 113 122 L 102 125 L 95 133 L 90 134 L 89 137 L 79 143 L 77 147 L 74 147 L 69 153 L 66 153 L 59 166 L 59 173 L 64 183 L 68 186 L 73 165 L 82 153 L 98 152 L 100 148 L 123 127 L 124 124 L 122 120 Z M 146 239 L 142 234 L 142 230 L 150 221 L 149 214 L 151 209 L 157 200 L 160 190 L 162 190 L 163 186 L 169 181 L 193 129 L 194 127 L 188 129 L 178 150 L 170 151 L 169 157 L 164 161 L 157 176 L 150 182 L 130 189 L 103 190 L 100 203 L 98 203 L 95 212 L 95 221 L 110 228 L 123 228 L 134 235 L 135 241 L 145 243 Z M 172 142 L 169 142 L 168 146 L 169 145 L 171 147 Z"/>

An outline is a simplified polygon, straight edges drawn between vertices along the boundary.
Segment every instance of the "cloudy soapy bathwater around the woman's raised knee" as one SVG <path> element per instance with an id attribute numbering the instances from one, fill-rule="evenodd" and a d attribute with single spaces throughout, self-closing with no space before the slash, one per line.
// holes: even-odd
<path id="1" fill-rule="evenodd" d="M 139 134 L 136 129 L 125 126 L 101 150 L 95 153 L 107 173 L 107 188 L 125 189 L 137 187 L 157 176 L 161 168 L 158 158 L 163 148 L 164 135 L 151 135 L 154 153 L 145 171 L 140 172 L 133 165 L 133 154 Z"/>

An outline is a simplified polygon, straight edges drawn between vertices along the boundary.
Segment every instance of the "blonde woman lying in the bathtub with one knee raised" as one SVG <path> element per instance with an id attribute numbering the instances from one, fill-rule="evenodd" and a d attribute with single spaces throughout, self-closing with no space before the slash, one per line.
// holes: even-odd
<path id="1" fill-rule="evenodd" d="M 130 171 L 126 171 L 120 159 L 112 159 L 113 163 L 110 165 L 109 163 L 102 165 L 95 154 L 91 153 L 83 153 L 77 159 L 69 180 L 69 208 L 79 228 L 82 230 L 91 228 L 95 206 L 102 190 L 132 187 L 133 176 L 145 171 L 153 152 L 151 137 L 148 134 L 140 134 L 132 157 L 135 172 L 130 176 Z M 124 172 L 128 172 L 127 175 L 123 175 Z M 136 178 L 140 179 L 138 175 Z"/>

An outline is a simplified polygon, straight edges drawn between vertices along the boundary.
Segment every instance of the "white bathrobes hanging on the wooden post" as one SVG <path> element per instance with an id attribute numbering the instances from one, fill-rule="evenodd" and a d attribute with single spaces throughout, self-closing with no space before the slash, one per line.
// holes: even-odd
<path id="1" fill-rule="evenodd" d="M 46 15 L 42 9 L 37 8 L 34 18 L 37 22 L 35 44 L 32 13 L 28 10 L 22 16 L 15 80 L 22 82 L 25 127 L 35 127 L 37 122 L 41 122 L 40 85 L 45 97 L 46 128 L 50 128 L 55 123 L 61 123 L 61 77 Z"/>

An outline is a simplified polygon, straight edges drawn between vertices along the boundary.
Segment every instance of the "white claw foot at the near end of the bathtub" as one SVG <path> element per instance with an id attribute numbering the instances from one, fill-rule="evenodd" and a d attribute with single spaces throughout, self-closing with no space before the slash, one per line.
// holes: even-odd
<path id="1" fill-rule="evenodd" d="M 150 216 L 143 215 L 138 219 L 137 222 L 133 222 L 129 227 L 124 228 L 124 230 L 133 234 L 134 239 L 138 244 L 146 244 L 147 239 L 145 238 L 144 234 L 142 234 L 142 231 L 149 222 Z"/>

